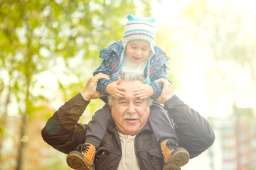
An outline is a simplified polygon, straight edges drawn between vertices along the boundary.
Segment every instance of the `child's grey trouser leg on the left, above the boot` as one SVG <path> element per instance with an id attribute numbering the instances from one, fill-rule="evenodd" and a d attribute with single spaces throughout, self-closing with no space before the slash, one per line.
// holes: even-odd
<path id="1" fill-rule="evenodd" d="M 86 130 L 85 143 L 94 145 L 96 149 L 100 147 L 110 117 L 111 111 L 107 104 L 92 116 Z"/>

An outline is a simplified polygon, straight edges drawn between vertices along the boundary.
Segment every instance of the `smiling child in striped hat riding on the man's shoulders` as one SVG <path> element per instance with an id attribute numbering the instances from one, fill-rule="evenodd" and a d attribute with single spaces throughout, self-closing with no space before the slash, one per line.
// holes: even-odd
<path id="1" fill-rule="evenodd" d="M 158 98 L 161 94 L 162 85 L 154 82 L 156 79 L 168 79 L 166 68 L 169 57 L 159 47 L 155 47 L 156 29 L 154 18 L 139 16 L 127 16 L 128 22 L 124 29 L 122 40 L 113 43 L 108 48 L 101 50 L 100 57 L 102 64 L 94 72 L 107 74 L 110 80 L 102 79 L 97 84 L 97 89 L 104 95 L 112 95 L 115 98 L 122 98 L 124 89 L 118 86 L 119 74 L 137 72 L 146 77 L 144 85 L 134 92 L 138 98 Z M 86 98 L 85 98 L 86 99 Z M 164 156 L 164 169 L 169 169 L 174 159 L 185 158 L 180 166 L 188 162 L 189 154 L 186 149 L 178 147 L 178 137 L 174 125 L 163 106 L 154 103 L 150 106 L 149 123 L 154 131 L 157 142 L 161 145 Z M 75 167 L 73 159 L 80 159 L 85 162 L 85 169 L 94 169 L 92 163 L 95 159 L 110 119 L 110 108 L 106 105 L 93 115 L 88 124 L 85 143 L 78 146 L 78 151 L 68 154 L 67 162 L 70 167 Z M 179 167 L 180 167 L 179 166 Z M 177 169 L 179 169 L 179 167 Z"/>

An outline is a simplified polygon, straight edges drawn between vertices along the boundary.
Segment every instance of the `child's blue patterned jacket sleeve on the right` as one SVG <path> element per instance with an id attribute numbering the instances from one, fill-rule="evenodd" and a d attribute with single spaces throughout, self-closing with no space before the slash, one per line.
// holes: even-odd
<path id="1" fill-rule="evenodd" d="M 151 98 L 158 98 L 161 95 L 163 85 L 161 83 L 154 82 L 155 80 L 160 78 L 164 78 L 170 81 L 166 73 L 166 64 L 159 68 L 158 72 L 154 72 L 153 70 L 151 74 L 151 83 L 149 85 L 154 89 L 154 95 L 151 96 Z"/>

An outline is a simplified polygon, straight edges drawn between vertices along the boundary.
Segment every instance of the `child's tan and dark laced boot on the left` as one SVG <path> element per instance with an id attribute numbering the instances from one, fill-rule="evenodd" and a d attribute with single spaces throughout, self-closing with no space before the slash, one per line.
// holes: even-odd
<path id="1" fill-rule="evenodd" d="M 68 154 L 67 164 L 76 170 L 94 170 L 92 166 L 95 159 L 96 149 L 90 143 L 78 145 L 76 151 Z"/>

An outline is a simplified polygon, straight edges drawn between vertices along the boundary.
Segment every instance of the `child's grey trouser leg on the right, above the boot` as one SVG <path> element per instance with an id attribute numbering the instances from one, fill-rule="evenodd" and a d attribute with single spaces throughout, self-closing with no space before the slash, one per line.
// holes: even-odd
<path id="1" fill-rule="evenodd" d="M 149 123 L 157 142 L 171 140 L 173 144 L 178 143 L 178 137 L 174 130 L 174 121 L 169 118 L 163 106 L 157 103 L 153 103 L 150 106 Z"/>

